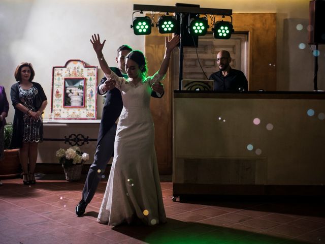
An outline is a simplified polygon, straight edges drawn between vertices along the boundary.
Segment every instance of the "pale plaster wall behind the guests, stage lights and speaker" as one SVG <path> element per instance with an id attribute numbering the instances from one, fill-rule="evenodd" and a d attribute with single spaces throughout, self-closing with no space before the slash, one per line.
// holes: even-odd
<path id="1" fill-rule="evenodd" d="M 89 41 L 91 34 L 100 33 L 107 39 L 104 53 L 109 57 L 109 65 L 114 66 L 119 45 L 144 49 L 144 37 L 135 36 L 130 28 L 133 4 L 174 6 L 176 2 L 200 4 L 203 8 L 233 9 L 237 13 L 277 13 L 277 89 L 313 89 L 314 59 L 307 45 L 306 30 L 308 0 L 1 0 L 0 84 L 5 86 L 10 99 L 15 68 L 21 62 L 30 62 L 36 72 L 34 81 L 42 84 L 50 101 L 53 66 L 63 66 L 68 59 L 82 59 L 90 65 L 98 65 Z M 302 31 L 296 29 L 298 23 L 303 24 Z M 306 48 L 299 49 L 300 43 L 305 43 Z M 318 89 L 325 90 L 323 50 L 320 46 Z M 101 103 L 99 101 L 99 114 Z M 50 105 L 45 110 L 46 118 L 49 111 Z M 8 121 L 12 121 L 13 114 L 14 109 L 10 107 Z"/>

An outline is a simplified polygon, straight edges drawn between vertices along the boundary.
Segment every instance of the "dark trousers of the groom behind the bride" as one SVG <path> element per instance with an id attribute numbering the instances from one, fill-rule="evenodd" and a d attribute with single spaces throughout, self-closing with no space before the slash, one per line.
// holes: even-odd
<path id="1" fill-rule="evenodd" d="M 82 191 L 82 199 L 86 204 L 93 198 L 102 175 L 105 172 L 106 165 L 113 154 L 115 134 L 116 124 L 112 126 L 96 146 L 94 161 L 89 168 L 85 186 Z"/>

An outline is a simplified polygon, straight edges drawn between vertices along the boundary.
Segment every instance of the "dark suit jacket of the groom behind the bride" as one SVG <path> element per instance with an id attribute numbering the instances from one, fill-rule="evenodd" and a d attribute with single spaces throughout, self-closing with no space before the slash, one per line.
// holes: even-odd
<path id="1" fill-rule="evenodd" d="M 118 68 L 110 67 L 110 69 L 119 77 L 127 78 L 127 75 L 123 75 Z M 100 94 L 99 93 L 100 85 L 102 85 L 106 80 L 107 80 L 107 78 L 103 77 L 103 79 L 97 86 L 98 94 Z M 121 96 L 121 92 L 119 89 L 117 89 L 117 88 L 111 89 L 106 94 L 107 94 L 106 101 L 105 101 L 105 104 L 103 107 L 103 113 L 102 113 L 102 119 L 101 119 L 101 124 L 100 124 L 100 130 L 98 133 L 97 144 L 100 143 L 100 141 L 103 139 L 103 137 L 106 135 L 106 133 L 114 125 L 115 121 L 120 116 L 122 108 L 123 108 L 122 96 Z M 104 95 L 104 94 L 100 94 L 100 95 Z M 163 95 L 161 95 L 161 97 L 163 97 Z M 159 98 L 155 92 L 152 92 L 151 96 L 154 98 Z"/>

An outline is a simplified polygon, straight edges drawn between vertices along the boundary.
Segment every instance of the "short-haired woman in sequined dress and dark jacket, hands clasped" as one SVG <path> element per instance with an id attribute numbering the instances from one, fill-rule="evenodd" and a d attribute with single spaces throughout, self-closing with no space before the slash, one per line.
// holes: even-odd
<path id="1" fill-rule="evenodd" d="M 23 184 L 35 184 L 38 142 L 43 140 L 42 113 L 47 98 L 42 86 L 32 82 L 35 71 L 30 63 L 21 63 L 15 71 L 17 83 L 11 86 L 11 101 L 15 108 L 12 148 L 20 148 Z M 28 170 L 29 163 L 29 170 Z"/>

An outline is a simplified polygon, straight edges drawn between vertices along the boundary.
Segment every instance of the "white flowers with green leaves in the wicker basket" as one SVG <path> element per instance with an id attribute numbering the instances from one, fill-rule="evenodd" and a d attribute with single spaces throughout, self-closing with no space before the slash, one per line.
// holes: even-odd
<path id="1" fill-rule="evenodd" d="M 60 148 L 56 151 L 56 157 L 65 168 L 83 164 L 89 159 L 89 155 L 83 153 L 78 146 L 69 147 L 67 150 Z"/>

